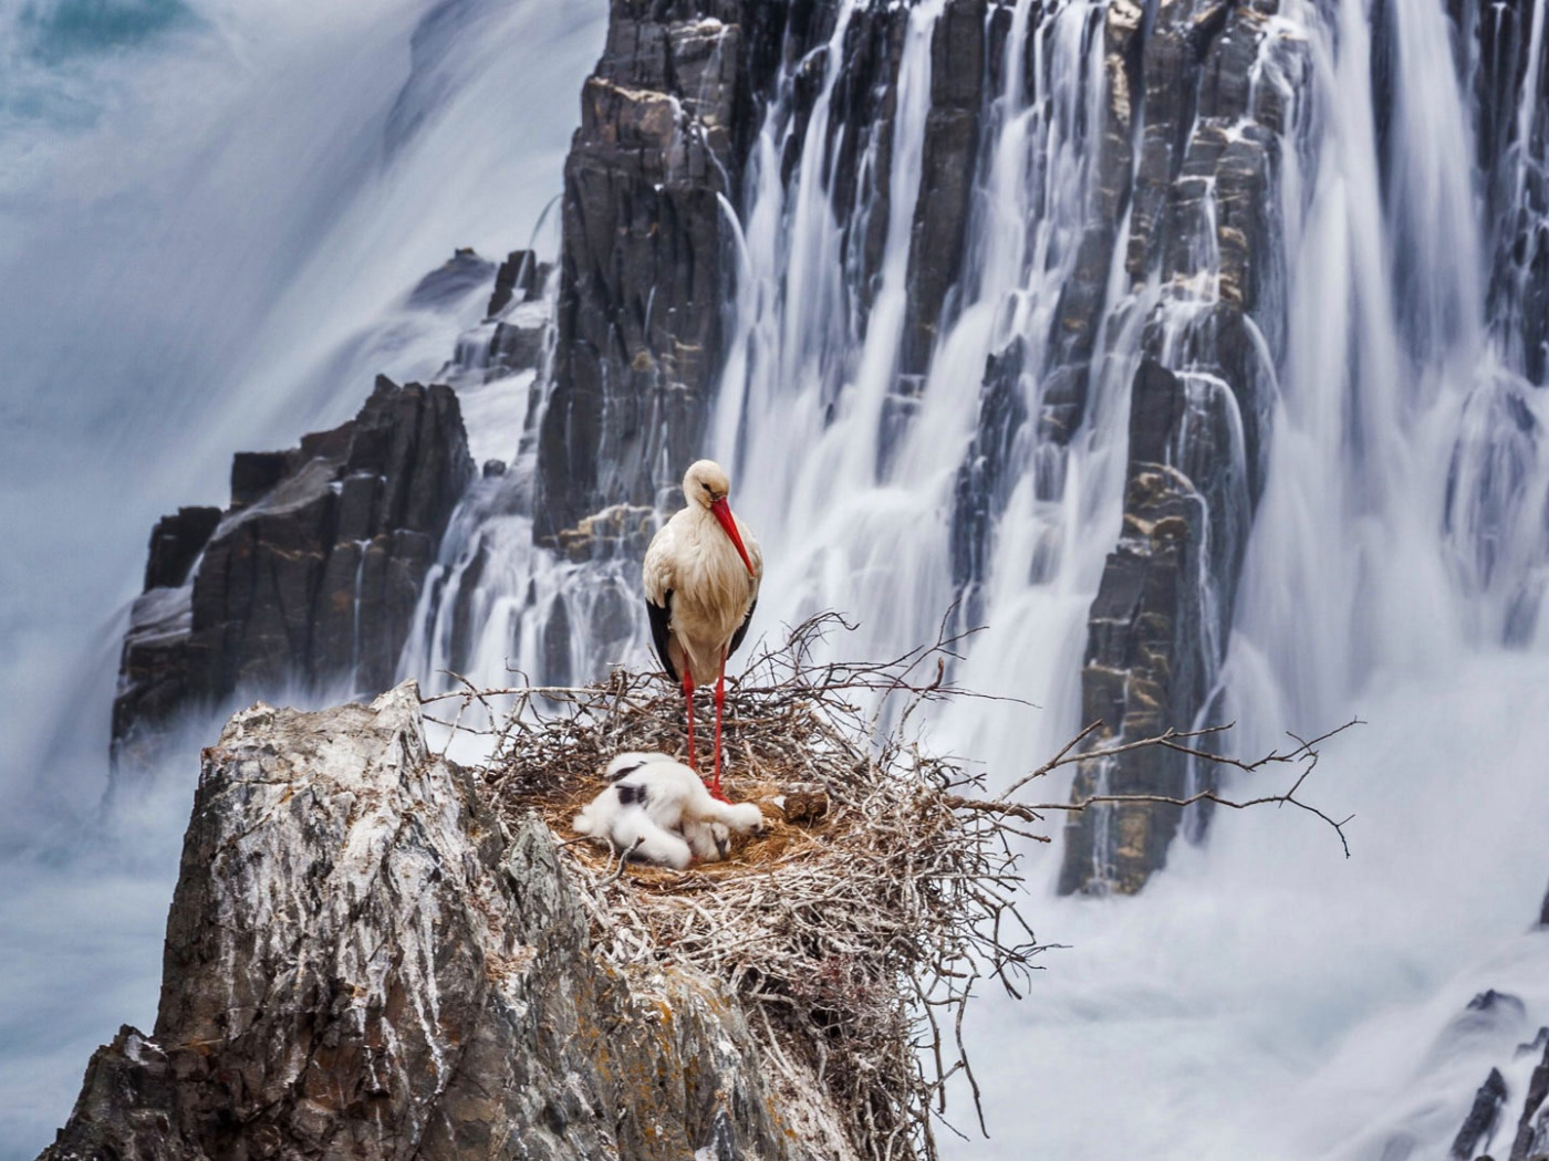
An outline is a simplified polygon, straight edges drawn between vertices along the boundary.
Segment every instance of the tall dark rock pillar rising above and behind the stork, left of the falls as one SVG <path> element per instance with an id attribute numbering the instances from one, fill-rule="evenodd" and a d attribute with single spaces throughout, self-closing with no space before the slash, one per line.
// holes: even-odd
<path id="1" fill-rule="evenodd" d="M 740 194 L 782 12 L 613 2 L 565 161 L 541 540 L 609 503 L 652 505 L 674 483 L 663 464 L 680 471 L 699 446 L 733 293 L 723 200 Z"/>

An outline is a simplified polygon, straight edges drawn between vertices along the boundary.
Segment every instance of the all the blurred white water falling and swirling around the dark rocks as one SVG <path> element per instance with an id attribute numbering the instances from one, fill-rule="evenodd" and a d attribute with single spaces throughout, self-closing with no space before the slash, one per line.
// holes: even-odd
<path id="1" fill-rule="evenodd" d="M 0 1121 L 8 1155 L 46 1139 L 90 1046 L 121 1020 L 144 1025 L 153 1003 L 183 819 L 169 802 L 186 802 L 192 771 L 160 803 L 93 819 L 90 844 L 76 837 L 101 785 L 112 610 L 135 588 L 144 529 L 177 503 L 218 498 L 231 450 L 353 410 L 370 372 L 435 370 L 471 319 L 421 317 L 403 294 L 455 245 L 525 243 L 558 189 L 598 8 L 443 3 L 424 19 L 407 2 L 280 5 L 259 17 L 125 0 L 94 25 L 60 0 L 0 26 L 22 62 L 0 82 L 0 139 L 26 163 L 0 186 L 0 344 L 19 370 L 0 412 L 14 446 L 0 488 L 5 542 L 22 546 L 0 563 L 0 791 L 19 851 L 8 882 L 20 882 L 0 902 L 6 978 L 20 980 L 0 1009 L 0 1079 L 23 1093 Z M 1549 3 L 1521 8 L 1538 60 Z M 1050 327 L 1098 180 L 1106 9 L 1015 5 L 956 311 L 906 395 L 940 0 L 908 12 L 894 147 L 872 141 L 861 159 L 888 166 L 892 192 L 864 293 L 847 245 L 857 221 L 832 209 L 832 141 L 802 135 L 782 183 L 795 87 L 770 107 L 747 203 L 728 207 L 739 289 L 706 447 L 731 467 L 770 562 L 754 632 L 833 607 L 861 622 L 833 642 L 843 652 L 934 636 L 957 594 L 954 488 L 985 361 L 1021 344 L 1016 390 L 1036 416 L 1061 358 Z M 1218 816 L 1142 896 L 1073 901 L 1053 895 L 1058 850 L 1029 851 L 1027 910 L 1069 949 L 1049 952 L 1021 1003 L 985 997 L 968 1033 L 993 1136 L 954 1156 L 1441 1156 L 1492 1065 L 1523 1088 L 1512 1050 L 1549 1023 L 1549 935 L 1530 930 L 1549 878 L 1549 409 L 1524 375 L 1523 320 L 1490 285 L 1503 223 L 1543 158 L 1518 147 L 1489 181 L 1478 172 L 1478 62 L 1455 51 L 1447 9 L 1284 0 L 1252 73 L 1287 110 L 1270 214 L 1281 274 L 1259 334 L 1267 474 L 1213 676 L 1242 754 L 1286 729 L 1369 721 L 1327 746 L 1307 791 L 1355 813 L 1354 856 L 1295 811 Z M 815 125 L 841 60 L 824 57 Z M 1523 93 L 1538 90 L 1534 68 Z M 1546 111 L 1523 99 L 1501 116 L 1530 142 Z M 1487 184 L 1506 209 L 1485 212 Z M 1221 294 L 1211 231 L 1191 259 L 1188 279 L 1135 286 L 1120 243 L 1098 336 L 1109 354 L 1081 427 L 1060 444 L 1029 424 L 1005 449 L 971 594 L 988 630 L 957 678 L 1041 709 L 971 703 L 932 723 L 939 745 L 1002 785 L 1081 724 L 1086 615 L 1118 533 L 1145 327 L 1191 398 L 1221 393 L 1176 342 Z M 589 594 L 576 598 L 576 568 L 536 553 L 519 511 L 463 511 L 440 576 L 446 593 L 479 590 L 485 628 L 465 669 L 503 681 L 508 661 L 565 676 L 643 661 L 638 625 L 587 633 L 599 591 L 632 599 L 629 570 L 579 577 Z M 556 608 L 572 628 L 558 658 L 544 647 Z M 445 616 L 431 624 L 409 672 L 446 661 Z M 59 837 L 40 859 L 26 836 L 50 824 Z M 33 918 L 43 907 L 53 918 Z M 105 971 L 108 955 L 138 966 Z M 118 991 L 82 997 L 110 978 Z M 1459 1022 L 1487 988 L 1521 997 L 1521 1019 Z M 65 1011 L 79 1019 L 62 1033 Z M 967 1128 L 965 1096 L 953 1119 Z"/>

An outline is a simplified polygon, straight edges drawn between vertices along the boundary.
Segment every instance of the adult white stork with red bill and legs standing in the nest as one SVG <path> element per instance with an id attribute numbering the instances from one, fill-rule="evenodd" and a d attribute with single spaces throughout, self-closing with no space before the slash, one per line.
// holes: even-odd
<path id="1" fill-rule="evenodd" d="M 713 460 L 683 474 L 688 502 L 646 550 L 646 610 L 657 656 L 688 703 L 688 765 L 694 763 L 694 686 L 716 678 L 716 777 L 720 794 L 720 712 L 726 701 L 726 656 L 747 636 L 764 579 L 759 542 L 726 506 L 731 481 Z"/>

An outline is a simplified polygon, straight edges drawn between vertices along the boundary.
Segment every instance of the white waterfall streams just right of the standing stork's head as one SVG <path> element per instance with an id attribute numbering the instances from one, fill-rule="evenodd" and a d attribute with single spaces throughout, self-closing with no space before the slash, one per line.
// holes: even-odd
<path id="1" fill-rule="evenodd" d="M 809 118 L 813 130 L 788 190 L 779 158 L 799 125 L 782 107 L 767 118 L 750 181 L 737 330 L 713 426 L 711 455 L 744 481 L 739 508 L 770 546 L 764 599 L 776 619 L 765 624 L 796 624 L 830 607 L 892 610 L 886 625 L 863 616 L 861 642 L 846 647 L 928 639 L 950 601 L 942 492 L 956 469 L 953 430 L 963 427 L 962 410 L 931 407 L 948 392 L 926 385 L 928 413 L 919 426 L 953 427 L 928 446 L 905 435 L 900 449 L 884 447 L 897 404 L 909 223 L 920 187 L 931 28 L 940 8 L 909 12 L 888 175 L 888 245 L 869 313 L 860 305 L 860 257 L 844 240 L 866 232 L 863 218 L 874 209 L 858 204 L 858 220 L 835 218 L 829 183 L 836 170 L 824 155 L 838 142 L 819 128 L 841 71 L 850 9 L 841 12 L 827 48 L 824 93 Z M 878 164 L 878 142 L 872 135 L 863 170 Z M 846 260 L 833 262 L 835 254 Z"/>

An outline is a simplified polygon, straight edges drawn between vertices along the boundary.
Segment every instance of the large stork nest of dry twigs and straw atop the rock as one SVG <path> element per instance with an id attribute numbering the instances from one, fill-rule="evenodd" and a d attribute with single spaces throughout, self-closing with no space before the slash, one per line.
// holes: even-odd
<path id="1" fill-rule="evenodd" d="M 843 624 L 802 624 L 728 690 L 726 791 L 764 802 L 768 828 L 686 872 L 618 873 L 610 851 L 570 828 L 615 754 L 685 752 L 675 686 L 615 670 L 582 689 L 469 689 L 463 704 L 517 700 L 485 780 L 508 819 L 538 810 L 570 841 L 603 957 L 725 980 L 776 1090 L 799 1101 L 815 1077 L 838 1110 L 843 1124 L 805 1125 L 830 1138 L 826 1152 L 936 1158 L 946 1079 L 963 1071 L 973 1084 L 960 1026 L 974 983 L 993 975 L 1015 989 L 1041 949 L 1013 902 L 1005 814 L 965 808 L 977 779 L 906 740 L 922 701 L 959 692 L 943 681 L 954 639 L 881 664 L 815 664 L 816 642 Z M 931 669 L 934 681 L 917 680 Z M 709 721 L 702 737 L 708 752 Z M 770 800 L 792 786 L 824 789 L 827 814 L 785 822 Z"/>

